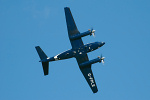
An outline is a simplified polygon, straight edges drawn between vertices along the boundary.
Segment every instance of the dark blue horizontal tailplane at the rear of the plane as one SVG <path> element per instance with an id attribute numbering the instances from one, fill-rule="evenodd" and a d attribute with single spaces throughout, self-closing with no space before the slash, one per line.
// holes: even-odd
<path id="1" fill-rule="evenodd" d="M 41 61 L 47 58 L 47 55 L 43 52 L 43 50 L 39 46 L 36 46 L 35 49 L 39 54 Z M 42 66 L 43 66 L 44 75 L 48 75 L 49 62 L 42 62 Z"/>

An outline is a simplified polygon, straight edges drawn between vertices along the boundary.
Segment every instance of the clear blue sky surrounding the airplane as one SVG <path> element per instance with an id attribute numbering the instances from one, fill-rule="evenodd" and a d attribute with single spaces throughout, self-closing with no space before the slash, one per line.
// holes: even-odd
<path id="1" fill-rule="evenodd" d="M 35 46 L 51 57 L 71 48 L 64 7 L 80 32 L 105 41 L 89 59 L 99 89 L 93 94 L 75 58 L 51 62 L 44 76 Z M 149 0 L 0 0 L 0 100 L 149 100 Z"/>

